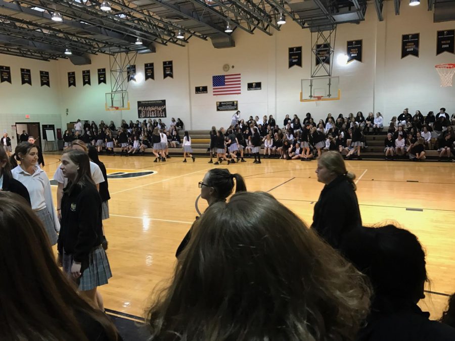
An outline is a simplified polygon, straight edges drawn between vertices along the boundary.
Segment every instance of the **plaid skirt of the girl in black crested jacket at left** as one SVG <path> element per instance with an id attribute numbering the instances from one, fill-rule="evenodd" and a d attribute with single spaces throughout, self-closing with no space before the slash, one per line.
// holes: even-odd
<path id="1" fill-rule="evenodd" d="M 63 271 L 71 276 L 71 265 L 73 264 L 73 256 L 65 253 L 63 250 Z M 112 277 L 111 267 L 107 259 L 106 252 L 101 245 L 95 247 L 88 255 L 88 268 L 82 272 L 82 275 L 75 280 L 78 288 L 81 291 L 92 290 L 97 286 L 108 283 L 108 279 Z M 71 280 L 74 280 L 71 277 Z"/>

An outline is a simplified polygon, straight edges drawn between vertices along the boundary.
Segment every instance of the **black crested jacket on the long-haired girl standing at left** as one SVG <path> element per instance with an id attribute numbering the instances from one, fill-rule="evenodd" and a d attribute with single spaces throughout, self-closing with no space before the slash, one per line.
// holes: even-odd
<path id="1" fill-rule="evenodd" d="M 87 184 L 76 186 L 62 198 L 62 219 L 57 249 L 60 254 L 71 254 L 74 261 L 81 262 L 81 272 L 88 266 L 88 255 L 101 244 L 103 237 L 101 222 L 101 197 L 97 187 Z"/>

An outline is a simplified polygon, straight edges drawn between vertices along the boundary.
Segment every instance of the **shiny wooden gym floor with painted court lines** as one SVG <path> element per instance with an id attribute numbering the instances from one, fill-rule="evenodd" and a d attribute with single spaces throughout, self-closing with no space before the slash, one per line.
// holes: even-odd
<path id="1" fill-rule="evenodd" d="M 52 178 L 59 155 L 45 155 Z M 182 163 L 182 157 L 154 163 L 152 157 L 102 156 L 108 173 L 154 171 L 140 177 L 109 180 L 111 218 L 104 221 L 113 278 L 100 288 L 105 307 L 133 317 L 144 316 L 158 283 L 173 271 L 175 250 L 193 223 L 198 182 L 214 167 L 228 167 L 246 179 L 250 191 L 267 191 L 309 226 L 323 185 L 316 180 L 316 161 L 262 159 L 261 165 L 208 164 L 208 158 Z M 439 318 L 447 296 L 455 291 L 455 163 L 348 161 L 357 176 L 363 223 L 395 221 L 415 233 L 427 254 L 431 285 L 420 306 Z M 122 176 L 122 175 L 119 175 Z M 53 186 L 54 198 L 56 186 Z M 201 212 L 205 201 L 199 201 Z"/>

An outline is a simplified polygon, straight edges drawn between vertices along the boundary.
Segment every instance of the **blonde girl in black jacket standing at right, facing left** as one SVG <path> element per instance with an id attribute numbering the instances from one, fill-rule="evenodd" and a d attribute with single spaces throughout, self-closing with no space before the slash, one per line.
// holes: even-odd
<path id="1" fill-rule="evenodd" d="M 333 151 L 317 159 L 315 172 L 317 181 L 325 186 L 314 205 L 311 227 L 337 249 L 348 232 L 362 226 L 355 195 L 355 174 L 346 170 L 341 154 Z"/>

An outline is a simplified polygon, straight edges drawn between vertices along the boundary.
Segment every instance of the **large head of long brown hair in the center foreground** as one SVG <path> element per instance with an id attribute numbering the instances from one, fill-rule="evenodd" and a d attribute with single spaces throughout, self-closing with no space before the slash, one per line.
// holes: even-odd
<path id="1" fill-rule="evenodd" d="M 366 281 L 272 196 L 239 192 L 195 222 L 147 323 L 157 340 L 351 340 Z"/>

